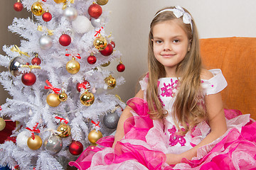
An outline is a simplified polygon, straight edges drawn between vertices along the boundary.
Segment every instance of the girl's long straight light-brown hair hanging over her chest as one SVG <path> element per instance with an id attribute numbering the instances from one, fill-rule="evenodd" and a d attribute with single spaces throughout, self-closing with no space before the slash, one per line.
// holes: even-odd
<path id="1" fill-rule="evenodd" d="M 184 10 L 188 13 L 185 8 Z M 164 66 L 156 60 L 156 57 L 154 57 L 152 39 L 153 28 L 156 24 L 174 20 L 176 20 L 176 23 L 183 28 L 185 33 L 188 35 L 188 40 L 191 42 L 191 49 L 176 67 L 176 75 L 179 77 L 179 86 L 176 94 L 176 101 L 173 106 L 174 113 L 172 113 L 176 126 L 179 128 L 178 125 L 181 124 L 183 128 L 185 128 L 185 130 L 180 130 L 180 132 L 184 134 L 202 120 L 206 119 L 206 109 L 204 109 L 201 104 L 198 104 L 201 100 L 200 74 L 202 64 L 198 30 L 193 20 L 193 31 L 191 30 L 190 24 L 183 23 L 182 17 L 176 18 L 174 13 L 171 11 L 159 13 L 159 15 L 151 21 L 148 47 L 149 83 L 146 89 L 146 100 L 149 103 L 149 114 L 152 119 L 161 119 L 166 116 L 166 111 L 164 111 L 161 106 L 161 102 L 159 101 L 157 87 L 157 80 L 161 77 L 166 77 L 166 71 Z"/>

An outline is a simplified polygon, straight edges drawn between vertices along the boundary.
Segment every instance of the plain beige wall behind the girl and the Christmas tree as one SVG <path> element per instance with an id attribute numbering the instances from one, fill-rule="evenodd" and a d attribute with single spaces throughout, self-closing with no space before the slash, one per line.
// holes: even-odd
<path id="1" fill-rule="evenodd" d="M 12 6 L 15 2 L 0 1 L 0 47 L 4 44 L 18 45 L 18 35 L 7 33 L 7 26 L 11 24 L 14 16 L 26 18 L 30 15 L 25 10 L 14 11 Z M 122 52 L 122 61 L 126 66 L 124 72 L 114 74 L 116 77 L 123 76 L 126 83 L 112 93 L 119 94 L 123 101 L 134 96 L 137 81 L 147 70 L 149 24 L 154 13 L 165 6 L 176 5 L 191 12 L 201 38 L 256 37 L 255 0 L 109 0 L 102 6 L 104 10 L 112 11 L 105 29 L 108 33 L 112 32 L 116 48 Z M 115 70 L 118 63 L 119 61 L 112 62 L 110 68 Z M 6 92 L 0 90 L 1 104 L 5 101 Z"/>

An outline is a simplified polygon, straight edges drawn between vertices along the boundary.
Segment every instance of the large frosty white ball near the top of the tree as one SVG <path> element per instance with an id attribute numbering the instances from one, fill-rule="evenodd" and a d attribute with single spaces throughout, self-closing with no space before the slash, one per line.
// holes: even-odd
<path id="1" fill-rule="evenodd" d="M 86 16 L 78 16 L 75 21 L 72 22 L 72 26 L 77 33 L 86 33 L 90 29 L 91 23 Z"/>

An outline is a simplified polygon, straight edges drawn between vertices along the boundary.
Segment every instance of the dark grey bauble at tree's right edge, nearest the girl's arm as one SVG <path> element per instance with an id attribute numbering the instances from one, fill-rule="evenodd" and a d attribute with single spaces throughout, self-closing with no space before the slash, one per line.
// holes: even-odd
<path id="1" fill-rule="evenodd" d="M 110 112 L 107 113 L 103 118 L 104 125 L 109 129 L 115 129 L 117 128 L 117 123 L 119 120 L 119 115 L 117 112 Z"/>

